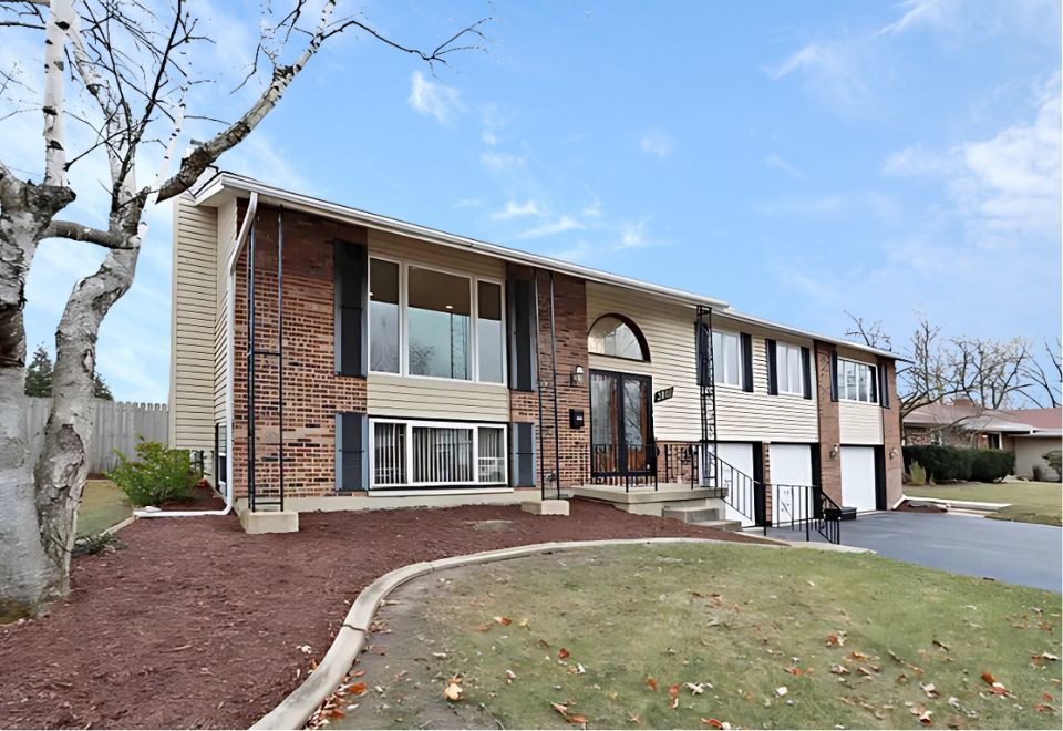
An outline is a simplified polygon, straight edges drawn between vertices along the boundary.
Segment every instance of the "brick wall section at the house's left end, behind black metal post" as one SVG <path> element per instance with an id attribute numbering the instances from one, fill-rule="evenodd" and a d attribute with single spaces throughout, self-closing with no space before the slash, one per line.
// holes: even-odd
<path id="1" fill-rule="evenodd" d="M 242 219 L 244 210 L 239 213 Z M 365 411 L 365 380 L 336 374 L 333 361 L 332 241 L 365 241 L 365 229 L 286 212 L 283 216 L 285 495 L 336 492 L 334 415 Z M 236 277 L 233 482 L 247 495 L 247 254 Z M 277 210 L 256 216 L 256 348 L 277 349 Z M 256 359 L 256 485 L 276 493 L 277 358 Z"/>

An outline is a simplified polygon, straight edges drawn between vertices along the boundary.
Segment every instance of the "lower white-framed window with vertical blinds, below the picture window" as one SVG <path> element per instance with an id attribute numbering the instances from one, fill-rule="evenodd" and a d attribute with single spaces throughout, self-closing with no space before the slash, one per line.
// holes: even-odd
<path id="1" fill-rule="evenodd" d="M 372 487 L 504 485 L 506 429 L 372 420 Z"/>

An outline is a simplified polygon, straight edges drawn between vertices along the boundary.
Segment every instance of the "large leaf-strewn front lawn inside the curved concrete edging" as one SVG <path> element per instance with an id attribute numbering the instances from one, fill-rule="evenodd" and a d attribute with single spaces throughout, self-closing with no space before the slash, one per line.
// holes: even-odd
<path id="1" fill-rule="evenodd" d="M 1060 662 L 1041 656 L 1060 655 L 1047 591 L 736 545 L 587 549 L 422 581 L 382 611 L 388 634 L 358 666 L 368 694 L 342 701 L 336 727 L 1061 723 Z"/>

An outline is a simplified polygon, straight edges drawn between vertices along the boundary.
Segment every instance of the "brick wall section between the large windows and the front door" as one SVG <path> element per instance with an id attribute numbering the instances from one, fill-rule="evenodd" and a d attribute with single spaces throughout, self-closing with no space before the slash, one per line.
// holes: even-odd
<path id="1" fill-rule="evenodd" d="M 510 265 L 508 276 L 532 279 L 527 267 Z M 539 328 L 538 328 L 538 381 L 543 390 L 543 429 L 536 433 L 536 484 L 539 480 L 539 442 L 541 436 L 546 474 L 555 472 L 554 429 L 554 371 L 550 341 L 550 282 L 549 275 L 539 272 Z M 587 289 L 582 279 L 554 275 L 554 322 L 557 340 L 557 441 L 560 446 L 560 486 L 582 485 L 590 480 L 590 363 L 587 357 Z M 571 384 L 572 370 L 584 369 L 582 385 Z M 568 425 L 570 409 L 584 412 L 582 429 Z M 538 424 L 539 398 L 536 393 L 509 392 L 510 420 Z M 540 485 L 541 486 L 541 485 Z M 554 487 L 548 482 L 548 487 Z"/>

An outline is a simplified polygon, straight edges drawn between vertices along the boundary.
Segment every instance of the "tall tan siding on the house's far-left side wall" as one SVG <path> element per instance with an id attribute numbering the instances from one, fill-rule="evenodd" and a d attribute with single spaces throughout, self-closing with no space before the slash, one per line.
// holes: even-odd
<path id="1" fill-rule="evenodd" d="M 174 446 L 214 445 L 217 212 L 174 199 L 169 434 Z"/>

